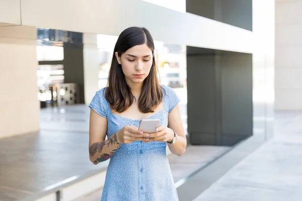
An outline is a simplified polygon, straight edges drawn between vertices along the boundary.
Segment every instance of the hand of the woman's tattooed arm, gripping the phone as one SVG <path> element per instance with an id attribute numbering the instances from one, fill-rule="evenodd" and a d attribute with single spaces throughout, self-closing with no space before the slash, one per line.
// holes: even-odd
<path id="1" fill-rule="evenodd" d="M 135 126 L 125 126 L 116 133 L 118 143 L 129 144 L 134 141 L 148 141 L 149 134 L 139 131 Z"/>

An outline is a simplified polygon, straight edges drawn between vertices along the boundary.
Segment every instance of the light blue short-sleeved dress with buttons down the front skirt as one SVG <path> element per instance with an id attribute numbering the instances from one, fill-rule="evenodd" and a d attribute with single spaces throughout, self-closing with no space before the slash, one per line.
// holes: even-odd
<path id="1" fill-rule="evenodd" d="M 160 119 L 168 125 L 168 114 L 179 103 L 175 91 L 165 89 L 164 109 L 147 119 Z M 132 120 L 113 114 L 104 96 L 105 88 L 96 92 L 89 105 L 99 115 L 107 118 L 107 137 L 115 134 L 126 125 L 139 126 L 140 120 Z M 142 143 L 136 141 L 122 144 L 110 158 L 101 200 L 106 201 L 174 201 L 178 200 L 165 142 Z"/>

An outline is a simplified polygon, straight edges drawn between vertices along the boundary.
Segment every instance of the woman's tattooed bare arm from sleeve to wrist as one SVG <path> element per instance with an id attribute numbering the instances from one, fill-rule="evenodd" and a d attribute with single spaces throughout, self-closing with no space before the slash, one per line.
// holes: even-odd
<path id="1" fill-rule="evenodd" d="M 107 119 L 91 109 L 89 125 L 89 158 L 95 165 L 111 158 L 114 152 L 122 145 L 117 141 L 116 134 L 105 140 L 106 134 Z"/>

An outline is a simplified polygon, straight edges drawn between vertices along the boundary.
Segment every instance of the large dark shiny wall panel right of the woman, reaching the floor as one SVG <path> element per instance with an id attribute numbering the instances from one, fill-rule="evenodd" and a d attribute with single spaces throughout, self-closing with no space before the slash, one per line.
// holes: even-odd
<path id="1" fill-rule="evenodd" d="M 252 55 L 187 47 L 188 133 L 196 145 L 253 135 Z"/>

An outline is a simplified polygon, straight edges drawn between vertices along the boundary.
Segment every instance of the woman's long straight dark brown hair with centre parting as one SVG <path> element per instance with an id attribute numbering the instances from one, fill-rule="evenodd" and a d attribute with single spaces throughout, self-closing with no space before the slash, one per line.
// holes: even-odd
<path id="1" fill-rule="evenodd" d="M 154 41 L 149 31 L 145 28 L 130 27 L 125 29 L 118 37 L 114 47 L 112 63 L 109 70 L 105 97 L 112 110 L 122 113 L 133 103 L 135 97 L 125 80 L 121 64 L 117 62 L 115 52 L 120 57 L 129 48 L 135 45 L 146 44 L 153 54 L 153 63 L 148 76 L 143 81 L 138 98 L 138 109 L 142 113 L 154 112 L 163 101 L 163 92 L 158 80 L 158 68 L 154 58 Z"/>

